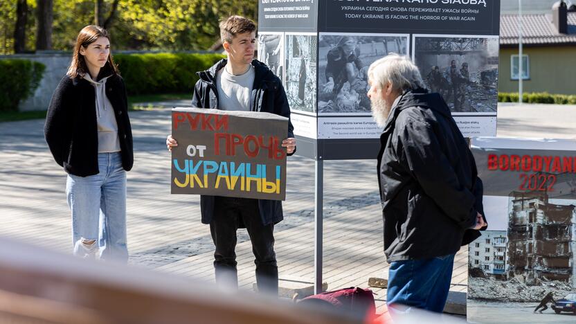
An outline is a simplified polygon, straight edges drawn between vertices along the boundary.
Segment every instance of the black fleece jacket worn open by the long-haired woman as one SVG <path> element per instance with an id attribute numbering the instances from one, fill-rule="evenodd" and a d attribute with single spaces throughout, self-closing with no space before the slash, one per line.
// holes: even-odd
<path id="1" fill-rule="evenodd" d="M 98 80 L 111 73 L 111 68 L 104 66 Z M 123 168 L 129 171 L 134 163 L 132 127 L 128 118 L 126 89 L 120 75 L 108 78 L 106 96 L 114 108 L 118 124 Z M 92 84 L 80 77 L 66 75 L 62 78 L 48 107 L 44 137 L 54 160 L 66 172 L 79 177 L 98 174 L 96 92 Z"/>

